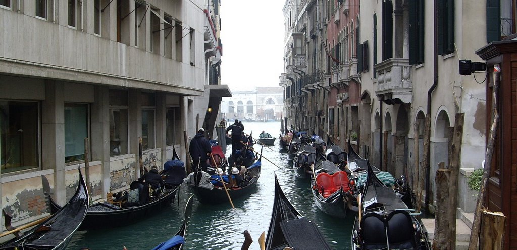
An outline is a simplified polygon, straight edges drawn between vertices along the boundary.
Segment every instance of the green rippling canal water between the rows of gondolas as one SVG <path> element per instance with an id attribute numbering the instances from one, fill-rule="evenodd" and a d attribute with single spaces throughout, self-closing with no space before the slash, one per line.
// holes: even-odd
<path id="1" fill-rule="evenodd" d="M 249 197 L 234 200 L 235 209 L 232 209 L 229 202 L 205 205 L 200 204 L 194 197 L 185 248 L 240 249 L 244 241 L 242 232 L 248 230 L 253 238 L 250 249 L 260 249 L 258 237 L 263 231 L 267 233 L 269 226 L 276 173 L 287 198 L 303 216 L 316 223 L 329 245 L 336 250 L 350 249 L 355 214 L 349 214 L 345 219 L 334 218 L 316 207 L 309 180 L 296 179 L 292 166 L 287 161 L 287 155 L 285 152 L 279 152 L 280 122 L 242 123 L 245 126 L 245 133 L 253 133 L 254 138 L 258 138 L 262 130 L 277 137 L 275 146 L 269 149 L 264 147 L 262 172 L 256 192 Z M 257 151 L 260 150 L 260 146 L 254 146 L 254 148 Z M 227 152 L 231 152 L 231 145 L 228 146 Z M 185 203 L 190 195 L 189 188 L 184 184 L 179 192 L 179 205 L 178 200 L 175 199 L 170 208 L 130 226 L 78 231 L 67 249 L 79 250 L 81 247 L 88 247 L 92 250 L 121 250 L 123 246 L 128 250 L 153 249 L 178 231 L 184 216 Z"/>

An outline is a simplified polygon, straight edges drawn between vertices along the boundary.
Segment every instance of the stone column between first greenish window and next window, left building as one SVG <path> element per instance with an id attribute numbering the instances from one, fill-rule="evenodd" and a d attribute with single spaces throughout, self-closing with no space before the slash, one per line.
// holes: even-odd
<path id="1" fill-rule="evenodd" d="M 110 192 L 110 90 L 108 86 L 95 85 L 95 101 L 92 104 L 90 141 L 92 160 L 102 161 L 102 198 Z"/>

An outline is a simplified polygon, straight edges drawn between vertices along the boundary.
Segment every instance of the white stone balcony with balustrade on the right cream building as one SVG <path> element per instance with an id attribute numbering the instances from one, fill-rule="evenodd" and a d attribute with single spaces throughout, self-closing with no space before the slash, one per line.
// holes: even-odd
<path id="1" fill-rule="evenodd" d="M 373 67 L 377 74 L 376 95 L 383 95 L 387 102 L 410 103 L 412 101 L 412 65 L 409 64 L 409 59 L 389 58 Z"/>

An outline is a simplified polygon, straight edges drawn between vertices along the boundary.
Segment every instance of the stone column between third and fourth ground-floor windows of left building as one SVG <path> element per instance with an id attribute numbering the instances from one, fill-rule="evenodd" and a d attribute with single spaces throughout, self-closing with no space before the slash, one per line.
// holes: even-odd
<path id="1" fill-rule="evenodd" d="M 129 153 L 135 154 L 136 178 L 140 178 L 139 137 L 142 137 L 142 93 L 129 90 Z"/>

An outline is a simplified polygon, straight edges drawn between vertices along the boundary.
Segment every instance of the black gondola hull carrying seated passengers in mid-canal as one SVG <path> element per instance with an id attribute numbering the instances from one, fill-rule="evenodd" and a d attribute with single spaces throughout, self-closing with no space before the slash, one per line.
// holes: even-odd
<path id="1" fill-rule="evenodd" d="M 262 150 L 261 150 L 262 152 Z M 260 172 L 261 172 L 261 166 L 262 166 L 262 154 L 258 159 L 255 161 L 253 165 L 250 167 L 247 167 L 247 175 L 249 180 L 247 181 L 247 184 L 242 187 L 238 186 L 232 186 L 227 189 L 228 194 L 232 198 L 232 200 L 237 199 L 239 197 L 248 195 L 252 190 L 256 190 L 256 185 L 258 178 L 260 178 Z M 202 176 L 206 172 L 203 173 L 201 169 L 196 169 L 193 173 L 191 173 L 192 176 Z M 217 174 L 217 173 L 216 173 Z M 209 174 L 208 174 L 209 175 Z M 189 175 L 190 177 L 190 175 Z M 208 176 L 208 178 L 210 178 Z M 189 179 L 189 178 L 187 178 Z M 217 181 L 215 181 L 217 182 Z M 197 199 L 204 204 L 220 204 L 228 202 L 228 197 L 226 195 L 225 190 L 222 186 L 215 186 L 210 183 L 192 183 L 187 181 L 188 186 L 192 190 L 192 193 L 197 197 Z"/>

